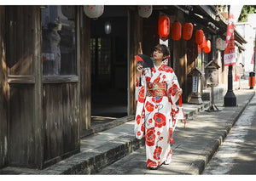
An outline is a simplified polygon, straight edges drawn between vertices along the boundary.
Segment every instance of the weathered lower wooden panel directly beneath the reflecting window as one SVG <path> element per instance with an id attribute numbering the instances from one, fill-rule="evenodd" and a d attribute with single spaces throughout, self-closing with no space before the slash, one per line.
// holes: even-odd
<path id="1" fill-rule="evenodd" d="M 44 164 L 79 151 L 78 83 L 44 84 Z"/>

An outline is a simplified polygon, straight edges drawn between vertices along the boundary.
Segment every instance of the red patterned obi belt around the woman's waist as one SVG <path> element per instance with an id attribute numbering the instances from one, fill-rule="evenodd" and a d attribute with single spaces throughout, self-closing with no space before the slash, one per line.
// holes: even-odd
<path id="1" fill-rule="evenodd" d="M 147 82 L 147 96 L 148 97 L 158 97 L 167 96 L 166 89 L 167 84 L 161 82 Z"/>

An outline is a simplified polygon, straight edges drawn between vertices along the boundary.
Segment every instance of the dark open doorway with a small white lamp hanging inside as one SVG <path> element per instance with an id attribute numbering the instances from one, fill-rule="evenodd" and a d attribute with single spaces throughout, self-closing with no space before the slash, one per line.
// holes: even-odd
<path id="1" fill-rule="evenodd" d="M 102 16 L 90 23 L 93 127 L 127 116 L 127 10 L 104 6 Z"/>

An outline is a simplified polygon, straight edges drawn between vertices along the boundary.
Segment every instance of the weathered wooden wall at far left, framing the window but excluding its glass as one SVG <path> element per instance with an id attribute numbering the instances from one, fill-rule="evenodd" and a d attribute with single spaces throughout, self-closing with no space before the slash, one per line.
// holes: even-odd
<path id="1" fill-rule="evenodd" d="M 80 66 L 44 76 L 41 10 L 1 7 L 1 167 L 43 168 L 79 152 Z M 75 39 L 79 47 L 79 33 Z"/>

